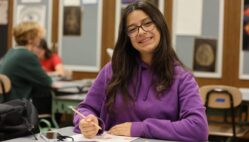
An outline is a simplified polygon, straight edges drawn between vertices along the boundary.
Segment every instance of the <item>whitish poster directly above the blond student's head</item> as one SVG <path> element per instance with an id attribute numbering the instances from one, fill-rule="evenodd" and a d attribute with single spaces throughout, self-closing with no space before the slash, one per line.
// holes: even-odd
<path id="1" fill-rule="evenodd" d="M 16 24 L 24 21 L 35 21 L 45 27 L 45 5 L 18 5 Z"/>

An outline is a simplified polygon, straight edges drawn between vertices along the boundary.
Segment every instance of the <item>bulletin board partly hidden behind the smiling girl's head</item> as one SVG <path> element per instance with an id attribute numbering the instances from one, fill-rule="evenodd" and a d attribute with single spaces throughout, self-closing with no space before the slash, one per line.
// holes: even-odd
<path id="1" fill-rule="evenodd" d="M 116 0 L 116 18 L 115 18 L 115 39 L 118 38 L 118 28 L 121 19 L 121 12 L 128 4 L 134 2 L 136 0 Z M 148 0 L 152 4 L 155 4 L 159 10 L 164 14 L 164 2 L 165 0 Z M 116 41 L 115 40 L 115 41 Z"/>

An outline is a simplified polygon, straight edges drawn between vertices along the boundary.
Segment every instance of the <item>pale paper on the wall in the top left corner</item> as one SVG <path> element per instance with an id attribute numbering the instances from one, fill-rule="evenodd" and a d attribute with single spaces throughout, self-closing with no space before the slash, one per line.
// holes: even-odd
<path id="1" fill-rule="evenodd" d="M 0 25 L 8 24 L 8 1 L 2 0 L 0 1 Z"/>

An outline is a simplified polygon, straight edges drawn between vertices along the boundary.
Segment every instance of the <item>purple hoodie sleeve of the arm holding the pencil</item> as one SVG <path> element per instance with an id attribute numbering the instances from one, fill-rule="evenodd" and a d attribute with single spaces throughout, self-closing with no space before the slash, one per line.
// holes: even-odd
<path id="1" fill-rule="evenodd" d="M 77 107 L 77 110 L 84 114 L 85 116 L 89 114 L 93 114 L 97 117 L 100 116 L 100 111 L 102 108 L 102 105 L 104 105 L 105 100 L 105 88 L 106 88 L 106 77 L 110 75 L 110 73 L 107 71 L 107 66 L 110 66 L 110 64 L 107 64 L 98 74 L 97 78 L 95 79 L 94 83 L 92 84 L 90 90 L 88 91 L 88 94 Z M 82 118 L 74 114 L 74 132 L 80 133 L 79 129 L 79 121 Z M 99 126 L 102 127 L 102 130 L 104 130 L 104 122 L 99 119 Z M 102 133 L 99 132 L 99 133 Z"/>

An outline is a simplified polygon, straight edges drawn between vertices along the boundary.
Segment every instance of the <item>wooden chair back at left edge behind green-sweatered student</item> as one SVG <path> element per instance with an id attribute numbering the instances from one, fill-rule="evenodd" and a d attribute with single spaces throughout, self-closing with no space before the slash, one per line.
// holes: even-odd
<path id="1" fill-rule="evenodd" d="M 0 102 L 4 101 L 4 96 L 7 95 L 11 88 L 10 79 L 4 75 L 0 74 Z"/>

